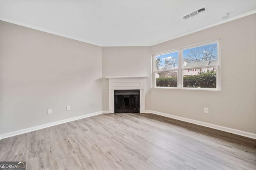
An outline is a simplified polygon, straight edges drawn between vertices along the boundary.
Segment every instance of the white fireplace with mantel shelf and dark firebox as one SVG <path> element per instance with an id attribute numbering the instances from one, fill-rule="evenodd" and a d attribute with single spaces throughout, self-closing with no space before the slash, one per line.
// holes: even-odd
<path id="1" fill-rule="evenodd" d="M 126 113 L 145 113 L 145 79 L 147 77 L 148 76 L 107 76 L 106 78 L 109 79 L 109 113 L 124 113 L 124 110 L 122 110 L 124 107 L 126 111 L 130 109 L 130 111 Z M 123 90 L 128 91 L 124 93 Z M 115 102 L 119 95 L 124 95 L 124 99 L 121 100 L 121 102 L 124 102 L 123 104 L 116 104 Z"/>

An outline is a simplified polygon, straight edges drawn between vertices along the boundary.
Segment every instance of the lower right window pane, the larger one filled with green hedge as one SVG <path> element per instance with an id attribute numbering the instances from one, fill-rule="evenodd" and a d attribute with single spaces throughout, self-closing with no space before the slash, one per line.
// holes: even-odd
<path id="1" fill-rule="evenodd" d="M 217 78 L 214 67 L 200 68 L 199 71 L 183 70 L 182 74 L 183 87 L 216 88 Z"/>

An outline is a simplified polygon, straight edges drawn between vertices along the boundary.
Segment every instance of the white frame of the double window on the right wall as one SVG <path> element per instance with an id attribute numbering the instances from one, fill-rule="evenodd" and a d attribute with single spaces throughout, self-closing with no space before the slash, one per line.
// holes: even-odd
<path id="1" fill-rule="evenodd" d="M 170 51 L 165 51 L 162 53 L 156 53 L 152 55 L 152 86 L 153 88 L 163 88 L 163 89 L 184 89 L 184 90 L 209 90 L 209 91 L 220 91 L 221 90 L 221 76 L 220 76 L 220 61 L 221 61 L 221 53 L 220 53 L 220 41 L 221 39 L 216 39 L 216 40 L 211 40 L 211 41 L 206 41 L 203 43 L 198 43 L 194 45 L 189 45 L 186 47 L 181 47 L 178 49 L 173 49 Z M 186 49 L 192 49 L 195 47 L 201 47 L 204 45 L 210 45 L 217 43 L 217 65 L 214 66 L 198 66 L 198 67 L 191 67 L 191 68 L 183 68 L 183 51 Z M 164 55 L 168 53 L 174 53 L 178 52 L 178 69 L 166 69 L 166 70 L 156 70 L 156 56 L 159 55 Z M 188 69 L 200 69 L 200 68 L 211 68 L 211 67 L 216 67 L 216 88 L 188 88 L 188 87 L 183 87 L 183 75 L 182 72 L 183 70 L 188 70 Z M 177 75 L 177 80 L 178 84 L 177 87 L 157 87 L 156 86 L 156 73 L 157 72 L 168 72 L 168 71 L 178 71 Z"/>

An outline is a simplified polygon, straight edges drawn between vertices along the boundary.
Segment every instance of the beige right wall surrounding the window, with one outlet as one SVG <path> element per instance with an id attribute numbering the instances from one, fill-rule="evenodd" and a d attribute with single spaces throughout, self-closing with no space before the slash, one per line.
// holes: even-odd
<path id="1" fill-rule="evenodd" d="M 219 38 L 222 90 L 152 89 L 152 110 L 256 133 L 256 14 L 154 45 L 151 53 Z"/>

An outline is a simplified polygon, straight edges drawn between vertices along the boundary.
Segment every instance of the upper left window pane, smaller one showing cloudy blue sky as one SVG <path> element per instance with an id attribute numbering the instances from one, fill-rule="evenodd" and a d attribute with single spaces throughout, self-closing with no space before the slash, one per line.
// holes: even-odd
<path id="1" fill-rule="evenodd" d="M 156 56 L 156 70 L 177 69 L 178 52 Z"/>

